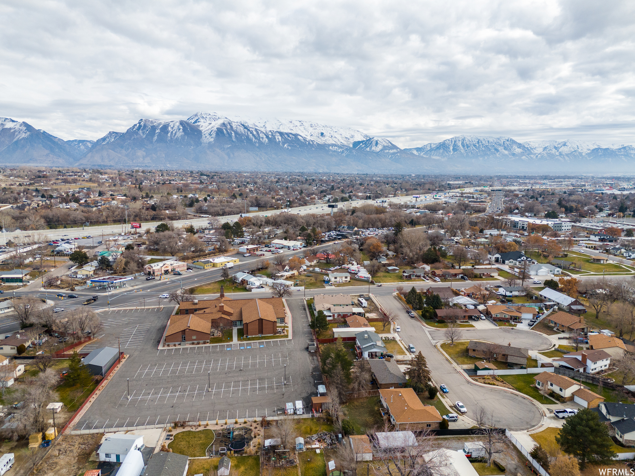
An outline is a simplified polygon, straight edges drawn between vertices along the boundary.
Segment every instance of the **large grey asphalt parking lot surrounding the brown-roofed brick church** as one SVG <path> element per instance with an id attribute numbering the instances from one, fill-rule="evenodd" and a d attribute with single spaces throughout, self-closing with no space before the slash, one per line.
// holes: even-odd
<path id="1" fill-rule="evenodd" d="M 86 350 L 120 343 L 130 357 L 74 429 L 260 418 L 281 413 L 286 402 L 309 404 L 322 379 L 306 350 L 304 303 L 287 303 L 292 340 L 161 350 L 171 307 L 101 312 L 104 336 Z"/>

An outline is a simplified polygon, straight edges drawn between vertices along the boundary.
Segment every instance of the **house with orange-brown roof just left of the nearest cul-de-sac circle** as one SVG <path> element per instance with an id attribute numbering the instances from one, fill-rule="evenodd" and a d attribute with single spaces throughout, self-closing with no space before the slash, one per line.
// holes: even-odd
<path id="1" fill-rule="evenodd" d="M 430 405 L 422 404 L 412 388 L 380 389 L 379 399 L 390 414 L 392 425 L 408 430 L 438 429 L 441 414 Z"/>

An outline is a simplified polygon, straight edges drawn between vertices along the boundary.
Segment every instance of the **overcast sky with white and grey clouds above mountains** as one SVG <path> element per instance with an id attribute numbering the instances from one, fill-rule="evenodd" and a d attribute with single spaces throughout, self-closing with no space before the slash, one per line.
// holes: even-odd
<path id="1" fill-rule="evenodd" d="M 0 117 L 64 139 L 197 111 L 635 143 L 632 1 L 0 0 Z"/>

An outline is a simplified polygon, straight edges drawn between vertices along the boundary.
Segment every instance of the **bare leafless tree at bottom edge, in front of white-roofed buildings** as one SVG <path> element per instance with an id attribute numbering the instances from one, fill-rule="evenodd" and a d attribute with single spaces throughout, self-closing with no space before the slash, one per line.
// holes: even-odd
<path id="1" fill-rule="evenodd" d="M 400 428 L 401 429 L 401 428 Z M 407 430 L 407 428 L 404 428 Z M 370 435 L 377 440 L 374 433 Z M 396 432 L 387 433 L 384 444 L 377 450 L 377 461 L 373 458 L 373 473 L 377 476 L 427 476 L 443 474 L 441 466 L 447 457 L 443 449 L 436 450 L 434 437 L 426 431 L 415 442 L 403 443 Z M 435 451 L 436 450 L 436 451 Z"/>

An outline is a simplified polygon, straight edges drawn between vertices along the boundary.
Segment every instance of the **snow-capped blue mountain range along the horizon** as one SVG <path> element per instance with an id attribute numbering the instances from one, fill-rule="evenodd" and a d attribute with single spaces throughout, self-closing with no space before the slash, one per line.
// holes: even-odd
<path id="1" fill-rule="evenodd" d="M 635 173 L 635 147 L 578 140 L 516 142 L 462 135 L 401 149 L 352 128 L 197 112 L 140 119 L 125 132 L 62 140 L 27 122 L 0 118 L 0 165 L 345 173 L 549 175 Z"/>

